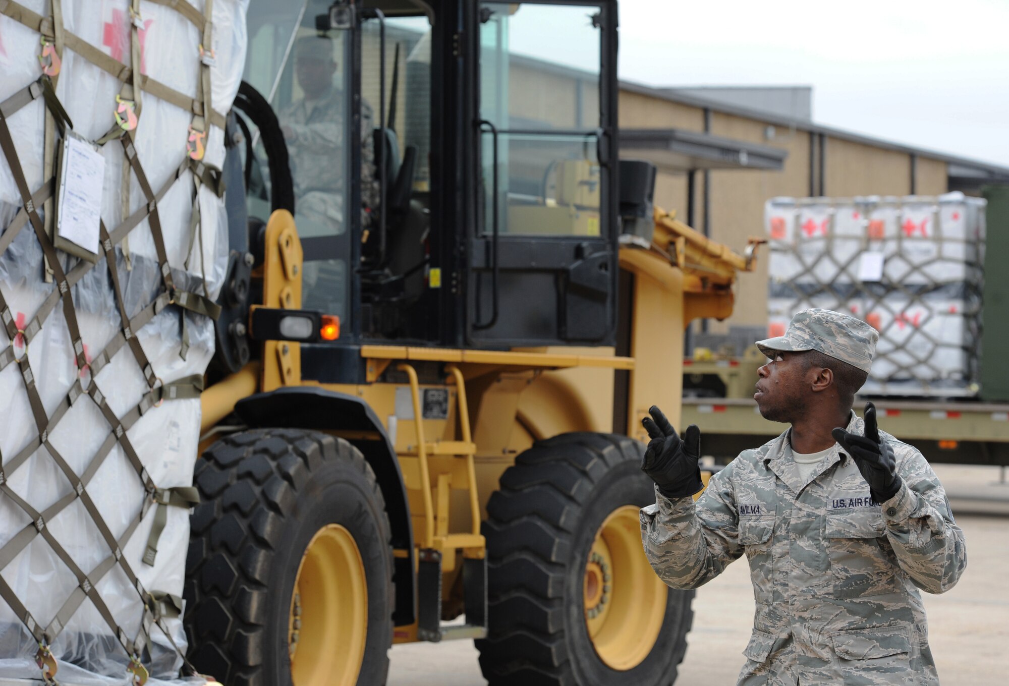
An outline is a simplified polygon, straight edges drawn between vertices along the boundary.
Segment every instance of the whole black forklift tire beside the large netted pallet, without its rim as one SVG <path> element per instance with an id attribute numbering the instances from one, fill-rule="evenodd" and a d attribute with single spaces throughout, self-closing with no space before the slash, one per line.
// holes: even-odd
<path id="1" fill-rule="evenodd" d="M 361 453 L 318 432 L 245 431 L 204 453 L 194 483 L 202 502 L 190 518 L 184 623 L 195 667 L 224 686 L 292 684 L 299 565 L 316 532 L 336 524 L 353 537 L 367 586 L 357 683 L 384 684 L 396 597 L 391 533 Z"/>

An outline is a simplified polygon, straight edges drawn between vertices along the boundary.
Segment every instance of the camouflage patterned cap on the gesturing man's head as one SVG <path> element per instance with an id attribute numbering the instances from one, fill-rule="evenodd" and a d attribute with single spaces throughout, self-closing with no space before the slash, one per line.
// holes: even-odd
<path id="1" fill-rule="evenodd" d="M 757 341 L 757 347 L 768 357 L 774 357 L 776 350 L 818 350 L 868 373 L 879 337 L 879 332 L 861 319 L 814 308 L 796 313 L 784 336 Z"/>

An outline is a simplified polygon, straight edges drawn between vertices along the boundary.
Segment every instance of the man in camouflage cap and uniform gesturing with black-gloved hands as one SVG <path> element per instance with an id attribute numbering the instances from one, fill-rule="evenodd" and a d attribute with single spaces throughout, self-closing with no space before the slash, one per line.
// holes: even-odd
<path id="1" fill-rule="evenodd" d="M 937 685 L 918 589 L 942 593 L 967 566 L 945 491 L 915 448 L 852 412 L 878 333 L 805 310 L 757 345 L 754 398 L 791 424 L 702 487 L 700 432 L 682 440 L 653 407 L 642 469 L 656 503 L 641 511 L 645 552 L 673 588 L 696 588 L 746 553 L 757 601 L 739 684 Z"/>

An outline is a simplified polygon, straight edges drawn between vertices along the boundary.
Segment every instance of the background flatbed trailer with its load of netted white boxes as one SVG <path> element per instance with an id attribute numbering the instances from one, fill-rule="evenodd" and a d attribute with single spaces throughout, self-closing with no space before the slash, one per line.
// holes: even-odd
<path id="1" fill-rule="evenodd" d="M 932 462 L 1009 465 L 1009 397 L 998 377 L 1009 274 L 996 228 L 1009 194 L 985 196 L 776 198 L 765 208 L 768 335 L 810 307 L 872 324 L 880 342 L 861 394 L 875 399 L 887 431 Z M 680 423 L 700 426 L 709 455 L 728 460 L 781 433 L 751 397 L 764 361 L 687 360 Z"/>

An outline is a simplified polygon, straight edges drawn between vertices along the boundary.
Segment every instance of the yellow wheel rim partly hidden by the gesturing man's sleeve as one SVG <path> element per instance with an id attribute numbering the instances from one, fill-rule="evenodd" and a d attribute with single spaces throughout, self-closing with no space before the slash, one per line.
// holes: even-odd
<path id="1" fill-rule="evenodd" d="M 585 560 L 582 601 L 596 654 L 619 671 L 648 657 L 666 615 L 666 585 L 641 545 L 637 505 L 618 507 L 595 535 Z"/>

